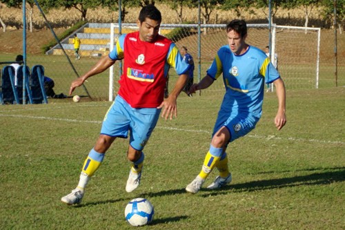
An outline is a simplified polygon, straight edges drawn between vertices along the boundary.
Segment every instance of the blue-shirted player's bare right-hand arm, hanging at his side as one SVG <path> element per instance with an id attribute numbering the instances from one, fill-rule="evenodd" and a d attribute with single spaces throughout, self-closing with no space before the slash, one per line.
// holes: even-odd
<path id="1" fill-rule="evenodd" d="M 277 111 L 277 115 L 275 116 L 275 126 L 277 127 L 278 130 L 280 130 L 286 124 L 285 86 L 284 86 L 284 82 L 281 78 L 275 80 L 273 83 L 275 84 L 275 88 L 277 90 L 277 97 L 278 97 L 278 111 Z"/>

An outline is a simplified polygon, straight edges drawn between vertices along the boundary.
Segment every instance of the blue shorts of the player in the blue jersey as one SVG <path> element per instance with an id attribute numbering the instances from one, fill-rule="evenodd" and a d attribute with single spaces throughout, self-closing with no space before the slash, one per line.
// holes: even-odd
<path id="1" fill-rule="evenodd" d="M 229 115 L 228 111 L 220 110 L 215 122 L 215 128 L 213 128 L 212 137 L 219 131 L 219 128 L 226 126 L 231 135 L 229 142 L 233 142 L 252 131 L 257 122 L 259 122 L 259 117 L 249 113 Z"/>

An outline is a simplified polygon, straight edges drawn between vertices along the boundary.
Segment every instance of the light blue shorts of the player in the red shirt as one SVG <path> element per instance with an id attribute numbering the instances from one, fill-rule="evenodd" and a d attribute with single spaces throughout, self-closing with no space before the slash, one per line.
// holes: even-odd
<path id="1" fill-rule="evenodd" d="M 138 151 L 144 149 L 155 128 L 161 109 L 132 108 L 117 95 L 103 119 L 101 134 L 127 138 L 130 131 L 130 146 Z"/>

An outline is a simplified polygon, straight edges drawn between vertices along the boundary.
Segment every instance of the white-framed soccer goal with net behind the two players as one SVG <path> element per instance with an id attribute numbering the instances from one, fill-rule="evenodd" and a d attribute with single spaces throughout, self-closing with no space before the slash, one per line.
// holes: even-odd
<path id="1" fill-rule="evenodd" d="M 248 37 L 246 42 L 251 46 L 265 50 L 269 45 L 268 24 L 247 24 Z M 137 24 L 111 24 L 110 50 L 115 46 L 119 33 L 136 31 Z M 226 24 L 161 24 L 160 34 L 172 39 L 177 47 L 186 46 L 195 62 L 195 80 L 204 77 L 212 63 L 217 50 L 227 44 Z M 319 46 L 320 28 L 296 26 L 271 26 L 272 44 L 270 53 L 277 54 L 277 69 L 284 79 L 287 89 L 318 88 L 319 82 Z M 110 68 L 109 100 L 117 93 L 117 81 L 122 73 L 122 64 L 117 62 Z M 170 70 L 169 84 L 174 84 L 175 70 Z M 176 79 L 176 77 L 175 77 Z M 217 81 L 212 87 L 203 90 L 204 93 L 224 92 L 222 81 Z"/>

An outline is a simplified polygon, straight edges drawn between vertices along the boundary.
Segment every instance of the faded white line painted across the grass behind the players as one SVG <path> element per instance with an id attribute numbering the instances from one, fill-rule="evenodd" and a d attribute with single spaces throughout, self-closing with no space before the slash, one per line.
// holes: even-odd
<path id="1" fill-rule="evenodd" d="M 61 121 L 61 122 L 79 122 L 79 123 L 93 123 L 101 124 L 101 121 L 87 121 L 80 119 L 66 119 L 66 118 L 55 118 L 55 117 L 41 117 L 41 116 L 28 116 L 28 115 L 10 115 L 10 114 L 0 114 L 0 117 L 18 117 L 18 118 L 29 118 L 29 119 L 46 119 L 51 121 Z M 190 132 L 190 133 L 208 133 L 210 131 L 206 130 L 195 130 L 195 129 L 185 129 L 185 128 L 173 128 L 166 126 L 156 126 L 156 128 L 162 128 L 167 130 Z M 304 139 L 304 138 L 295 138 L 295 137 L 276 137 L 275 135 L 246 135 L 246 137 L 257 138 L 257 139 L 266 139 L 266 140 L 290 140 L 296 142 L 315 142 L 321 144 L 345 144 L 345 142 L 339 141 L 327 141 L 327 140 L 315 140 L 315 139 Z"/>

